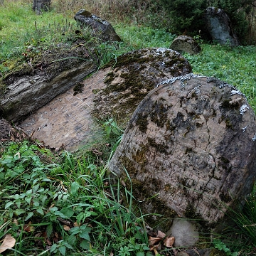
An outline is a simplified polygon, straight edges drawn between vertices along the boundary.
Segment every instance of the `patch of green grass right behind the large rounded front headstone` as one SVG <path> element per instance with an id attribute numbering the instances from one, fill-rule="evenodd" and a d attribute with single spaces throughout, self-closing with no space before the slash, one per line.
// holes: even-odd
<path id="1" fill-rule="evenodd" d="M 215 76 L 243 92 L 256 112 L 256 55 L 255 46 L 229 48 L 213 44 L 203 44 L 203 52 L 188 55 L 193 73 Z"/>

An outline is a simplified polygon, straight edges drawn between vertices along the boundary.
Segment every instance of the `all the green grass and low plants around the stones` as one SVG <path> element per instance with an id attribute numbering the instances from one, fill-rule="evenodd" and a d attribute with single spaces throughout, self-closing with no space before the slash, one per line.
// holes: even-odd
<path id="1" fill-rule="evenodd" d="M 77 27 L 71 15 L 75 1 L 65 5 L 65 15 L 60 9 L 65 1 L 53 1 L 54 10 L 41 16 L 33 14 L 30 2 L 6 1 L 6 5 L 1 6 L 2 78 L 26 61 L 24 54 L 28 49 L 33 48 L 40 54 L 53 44 L 70 43 L 75 36 Z M 164 29 L 142 25 L 132 16 L 125 22 L 122 18 L 122 23 L 118 18 L 112 20 L 123 42 L 119 48 L 106 43 L 95 46 L 102 65 L 128 50 L 168 48 L 175 37 Z M 214 75 L 235 85 L 256 111 L 256 47 L 232 49 L 203 43 L 202 48 L 203 52 L 198 55 L 186 54 L 193 73 Z M 105 166 L 122 131 L 112 120 L 106 120 L 102 128 L 105 141 L 97 146 L 97 154 L 91 150 L 75 156 L 65 151 L 53 154 L 31 142 L 1 143 L 0 240 L 6 240 L 6 234 L 16 240 L 8 255 L 152 255 L 143 215 L 130 200 L 132 191 L 127 191 L 122 181 L 112 186 L 105 174 Z M 127 207 L 115 196 L 119 194 L 115 191 L 121 190 L 127 198 Z M 212 246 L 225 251 L 226 255 L 235 256 L 238 252 L 253 255 L 255 209 L 256 190 L 252 191 L 245 209 L 233 214 L 235 224 L 228 233 L 236 234 L 232 241 L 225 239 L 228 235 L 220 236 Z"/>

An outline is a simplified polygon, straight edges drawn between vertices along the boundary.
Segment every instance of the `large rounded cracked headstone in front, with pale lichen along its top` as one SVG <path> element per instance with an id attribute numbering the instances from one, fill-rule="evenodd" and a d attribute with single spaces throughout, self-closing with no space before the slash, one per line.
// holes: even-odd
<path id="1" fill-rule="evenodd" d="M 255 181 L 255 119 L 242 92 L 223 81 L 171 78 L 137 107 L 109 169 L 122 179 L 127 169 L 144 213 L 215 224 Z"/>

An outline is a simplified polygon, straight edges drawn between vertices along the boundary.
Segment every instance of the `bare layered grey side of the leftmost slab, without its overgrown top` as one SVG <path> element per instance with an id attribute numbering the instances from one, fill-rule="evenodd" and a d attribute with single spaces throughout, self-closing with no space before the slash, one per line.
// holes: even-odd
<path id="1" fill-rule="evenodd" d="M 70 57 L 70 63 L 73 60 L 75 58 Z M 73 68 L 66 70 L 64 64 L 58 67 L 52 62 L 48 63 L 47 68 L 31 68 L 28 73 L 6 78 L 9 85 L 6 87 L 6 93 L 0 97 L 3 117 L 11 122 L 21 120 L 82 81 L 96 69 L 96 60 L 88 58 L 82 62 L 76 61 Z"/>

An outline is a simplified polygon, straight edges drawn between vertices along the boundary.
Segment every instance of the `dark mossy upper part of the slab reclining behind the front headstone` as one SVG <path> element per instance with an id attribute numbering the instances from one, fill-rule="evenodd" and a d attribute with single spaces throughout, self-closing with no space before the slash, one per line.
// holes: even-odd
<path id="1" fill-rule="evenodd" d="M 97 93 L 94 113 L 97 119 L 114 117 L 122 128 L 159 82 L 192 71 L 186 58 L 168 48 L 134 50 L 109 65 L 112 69 L 106 74 L 107 87 Z"/>

